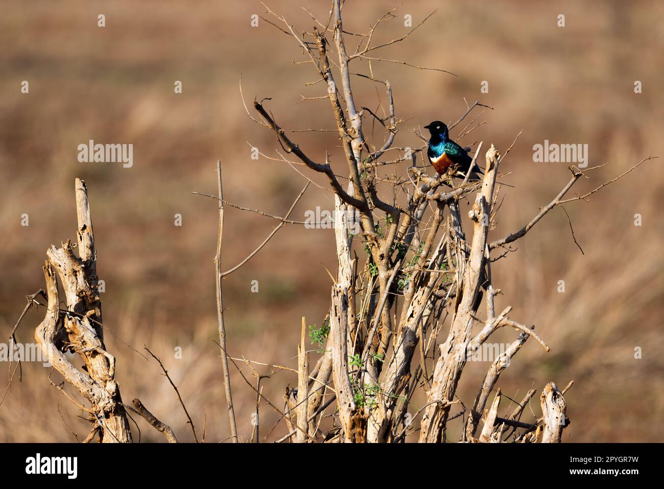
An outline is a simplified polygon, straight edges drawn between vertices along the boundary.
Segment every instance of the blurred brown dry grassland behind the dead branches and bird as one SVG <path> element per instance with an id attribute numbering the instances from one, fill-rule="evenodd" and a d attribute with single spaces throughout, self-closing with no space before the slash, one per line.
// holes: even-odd
<path id="1" fill-rule="evenodd" d="M 283 13 L 298 33 L 313 26 L 301 7 L 319 19 L 326 20 L 329 12 L 328 1 L 266 4 Z M 291 37 L 263 20 L 252 27 L 252 15 L 265 16 L 258 2 L 41 0 L 5 7 L 0 17 L 0 343 L 8 342 L 25 296 L 44 286 L 46 248 L 75 237 L 74 178 L 80 177 L 88 184 L 98 273 L 106 283 L 106 345 L 117 359 L 125 403 L 139 397 L 179 439 L 192 438 L 159 365 L 133 350 L 145 354 L 147 345 L 178 385 L 197 431 L 205 419 L 206 440 L 226 439 L 226 401 L 214 343 L 216 203 L 192 192 L 216 191 L 217 159 L 224 197 L 244 207 L 284 215 L 306 183 L 286 163 L 252 159 L 251 147 L 270 157 L 278 157 L 281 148 L 274 134 L 247 116 L 240 74 L 250 110 L 254 98 L 271 97 L 266 108 L 291 138 L 320 161 L 328 151 L 337 173 L 345 173 L 334 132 L 291 132 L 335 128 L 329 103 L 301 101 L 325 95 L 325 87 L 311 84 L 317 75 L 310 64 L 301 64 L 305 57 Z M 348 0 L 344 27 L 365 32 L 394 7 L 397 1 Z M 501 376 L 503 393 L 521 399 L 531 387 L 541 391 L 554 381 L 562 388 L 574 380 L 565 396 L 571 420 L 565 441 L 661 441 L 664 5 L 426 0 L 401 5 L 394 19 L 380 25 L 374 41 L 401 37 L 409 30 L 404 15 L 416 25 L 434 9 L 437 13 L 422 27 L 379 55 L 454 75 L 374 62 L 374 76 L 390 81 L 396 115 L 404 120 L 396 146 L 422 146 L 411 130 L 436 119 L 456 121 L 467 108 L 464 98 L 493 107 L 473 125 L 485 124 L 461 138 L 464 146 L 483 141 L 485 148 L 493 143 L 504 151 L 523 130 L 501 166 L 511 172 L 503 181 L 514 188 L 505 189 L 493 239 L 521 228 L 570 178 L 565 163 L 533 163 L 535 144 L 588 144 L 590 166 L 609 163 L 581 179 L 569 197 L 613 179 L 644 157 L 660 156 L 588 202 L 566 205 L 583 253 L 564 212 L 553 209 L 492 271 L 495 286 L 503 290 L 497 309 L 513 306 L 513 319 L 537 325 L 551 347 L 545 353 L 536 342 L 526 343 Z M 106 16 L 103 28 L 97 25 L 100 13 Z M 558 27 L 560 14 L 565 27 Z M 353 49 L 354 42 L 347 41 Z M 367 72 L 366 62 L 355 63 L 355 72 Z M 28 94 L 21 93 L 23 80 L 29 82 Z M 183 93 L 175 94 L 175 80 L 181 80 Z M 483 80 L 488 93 L 480 92 Z M 634 90 L 637 80 L 640 94 Z M 384 90 L 364 78 L 352 81 L 357 103 L 382 113 Z M 466 122 L 482 110 L 475 109 Z M 365 135 L 382 141 L 371 116 L 365 116 L 365 124 Z M 133 144 L 133 166 L 80 163 L 78 145 L 89 140 Z M 409 164 L 392 165 L 390 172 L 406 175 Z M 422 165 L 420 155 L 417 164 Z M 325 186 L 318 175 L 298 169 Z M 333 198 L 311 185 L 291 219 L 304 220 L 305 212 L 317 207 L 332 210 Z M 465 215 L 467 209 L 462 210 Z M 24 214 L 28 226 L 21 225 Z M 181 227 L 174 224 L 176 214 L 182 216 Z M 275 225 L 272 219 L 227 209 L 222 268 L 242 260 Z M 334 273 L 336 267 L 333 236 L 331 229 L 286 226 L 224 279 L 230 355 L 297 367 L 301 317 L 320 325 L 329 308 L 331 280 L 325 268 Z M 362 246 L 357 245 L 358 254 Z M 258 281 L 258 292 L 252 292 L 252 280 Z M 560 280 L 564 292 L 559 292 Z M 29 312 L 17 331 L 19 342 L 34 342 L 43 316 L 44 308 Z M 497 341 L 515 337 L 511 331 L 501 335 Z M 457 391 L 465 403 L 475 399 L 486 369 L 482 362 L 467 367 Z M 0 405 L 1 441 L 75 441 L 63 418 L 79 439 L 86 436 L 84 413 L 50 385 L 49 371 L 40 363 L 23 363 L 22 381 L 15 377 Z M 255 383 L 248 367 L 242 371 Z M 231 373 L 238 431 L 247 440 L 256 394 L 232 366 Z M 0 362 L 0 396 L 8 379 L 9 364 Z M 297 385 L 297 375 L 280 371 L 263 379 L 263 393 L 281 408 L 289 384 Z M 540 415 L 539 394 L 531 402 L 532 411 L 527 408 L 522 421 Z M 415 399 L 413 406 L 422 404 Z M 278 415 L 269 406 L 260 409 L 263 437 Z M 163 441 L 137 421 L 142 441 Z M 268 440 L 285 433 L 282 422 Z"/>

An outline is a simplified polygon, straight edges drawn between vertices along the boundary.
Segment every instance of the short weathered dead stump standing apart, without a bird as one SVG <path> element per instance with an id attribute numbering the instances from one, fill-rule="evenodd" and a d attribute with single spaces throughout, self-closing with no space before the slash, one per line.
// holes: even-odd
<path id="1" fill-rule="evenodd" d="M 84 407 L 68 395 L 62 385 L 56 385 L 72 403 L 88 413 L 93 425 L 91 435 L 98 432 L 102 442 L 131 442 L 120 387 L 115 379 L 116 361 L 104 345 L 88 189 L 78 178 L 76 214 L 77 245 L 67 241 L 60 248 L 51 246 L 46 250 L 44 278 L 48 310 L 35 330 L 35 340 L 53 368 L 90 403 L 89 408 Z M 79 256 L 74 254 L 76 247 Z M 64 290 L 65 308 L 60 306 L 58 277 Z M 66 351 L 80 355 L 84 362 L 82 371 L 70 363 L 64 355 Z"/>

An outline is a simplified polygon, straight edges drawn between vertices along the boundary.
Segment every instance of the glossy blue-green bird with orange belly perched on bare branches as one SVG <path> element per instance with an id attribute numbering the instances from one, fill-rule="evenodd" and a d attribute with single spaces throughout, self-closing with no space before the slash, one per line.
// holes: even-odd
<path id="1" fill-rule="evenodd" d="M 424 126 L 431 133 L 429 140 L 429 149 L 426 154 L 434 169 L 441 175 L 445 175 L 451 166 L 456 165 L 454 177 L 464 178 L 465 174 L 473 162 L 473 159 L 463 147 L 456 144 L 448 136 L 448 126 L 440 120 L 434 120 L 428 126 Z M 470 180 L 480 180 L 477 173 L 483 175 L 482 170 L 477 164 L 470 173 Z"/>

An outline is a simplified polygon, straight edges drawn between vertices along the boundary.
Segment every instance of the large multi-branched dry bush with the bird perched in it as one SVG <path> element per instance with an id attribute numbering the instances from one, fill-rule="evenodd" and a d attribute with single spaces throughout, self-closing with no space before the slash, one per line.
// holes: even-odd
<path id="1" fill-rule="evenodd" d="M 495 312 L 494 298 L 500 290 L 493 285 L 491 262 L 507 256 L 513 250 L 510 243 L 524 237 L 553 207 L 587 200 L 611 181 L 584 195 L 565 199 L 580 177 L 597 168 L 582 171 L 571 166 L 570 181 L 535 218 L 523 229 L 491 241 L 489 235 L 495 228 L 497 213 L 496 197 L 501 189 L 499 168 L 509 149 L 501 155 L 493 145 L 490 146 L 485 154 L 483 181 L 469 181 L 470 171 L 461 182 L 454 181 L 449 174 L 428 175 L 425 169 L 415 165 L 416 153 L 426 145 L 415 151 L 393 146 L 402 120 L 396 116 L 390 82 L 374 77 L 372 62 L 399 62 L 413 66 L 376 57 L 374 52 L 404 41 L 435 11 L 402 37 L 376 44 L 373 43 L 374 32 L 382 23 L 395 17 L 393 11 L 380 17 L 367 33 L 351 33 L 343 28 L 342 3 L 332 1 L 325 22 L 309 12 L 313 28 L 301 35 L 284 15 L 274 13 L 265 4 L 268 17 L 262 19 L 293 38 L 295 45 L 303 51 L 305 62 L 311 64 L 315 76 L 325 84 L 327 93 L 305 100 L 329 100 L 343 147 L 347 179 L 337 176 L 339 169 L 333 169 L 328 153 L 325 161 L 315 161 L 291 140 L 287 130 L 273 115 L 273 110 L 277 113 L 278 110 L 268 110 L 264 106 L 264 100 L 269 99 L 254 102 L 257 118 L 248 108 L 246 111 L 254 122 L 274 132 L 288 155 L 297 157 L 311 171 L 325 175 L 335 195 L 338 270 L 331 292 L 329 337 L 325 352 L 309 376 L 306 395 L 301 392 L 305 359 L 300 357 L 297 395 L 291 396 L 288 392 L 286 395 L 289 407 L 285 416 L 291 431 L 280 441 L 293 437 L 306 442 L 315 439 L 400 442 L 406 434 L 416 431 L 414 418 L 421 417 L 420 442 L 441 442 L 446 440 L 448 423 L 460 415 L 467 415 L 463 441 L 501 442 L 513 438 L 533 442 L 542 432 L 543 442 L 559 442 L 568 420 L 564 418 L 562 392 L 553 383 L 549 383 L 542 393 L 542 418 L 530 424 L 521 423 L 519 417 L 535 391 L 531 391 L 512 415 L 505 418 L 498 416 L 501 397 L 498 391 L 479 439 L 475 438 L 489 395 L 517 351 L 529 338 L 540 343 L 544 351 L 549 351 L 548 345 L 535 333 L 535 326 L 525 326 L 523 321 L 511 318 L 511 307 L 498 314 Z M 355 49 L 347 46 L 347 39 L 359 39 Z M 357 60 L 365 61 L 363 66 L 369 68 L 368 72 L 361 72 L 361 66 L 351 70 L 351 64 Z M 351 80 L 369 80 L 384 88 L 388 103 L 382 116 L 359 104 Z M 450 124 L 450 130 L 478 106 L 483 104 L 478 101 L 469 106 L 456 123 Z M 365 137 L 363 122 L 367 118 L 376 120 L 384 128 L 381 140 Z M 414 133 L 426 142 L 419 132 Z M 480 154 L 481 146 L 479 143 L 473 162 Z M 286 155 L 280 151 L 277 154 L 278 158 L 268 157 L 292 166 Z M 386 159 L 386 155 L 392 155 L 392 158 Z M 650 158 L 643 161 L 647 159 Z M 394 171 L 391 175 L 380 175 L 388 165 L 402 161 L 412 161 L 412 166 L 402 173 Z M 461 215 L 459 202 L 473 193 L 474 203 L 467 216 L 472 229 L 468 232 L 464 229 L 465 217 Z M 285 222 L 284 218 L 268 216 L 281 220 L 282 224 Z M 360 229 L 357 234 L 351 232 L 356 226 Z M 351 253 L 354 245 L 357 248 L 363 246 L 367 256 L 359 269 L 357 258 Z M 513 328 L 517 338 L 491 363 L 474 403 L 467 408 L 456 395 L 467 358 L 504 326 Z M 330 383 L 333 389 L 327 387 Z M 426 391 L 428 401 L 410 415 L 410 400 L 420 387 Z M 324 432 L 319 427 L 326 395 L 335 399 L 338 414 L 333 425 Z M 307 409 L 298 409 L 305 402 L 308 402 Z M 457 413 L 451 416 L 453 407 Z M 295 420 L 297 417 L 300 419 Z M 306 437 L 303 436 L 301 417 L 307 419 L 309 431 Z M 520 433 L 519 430 L 525 431 Z"/>

